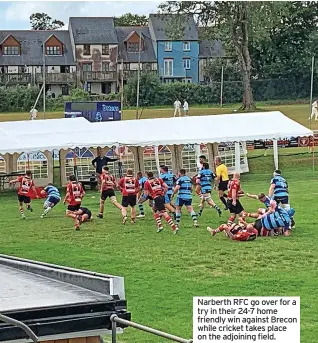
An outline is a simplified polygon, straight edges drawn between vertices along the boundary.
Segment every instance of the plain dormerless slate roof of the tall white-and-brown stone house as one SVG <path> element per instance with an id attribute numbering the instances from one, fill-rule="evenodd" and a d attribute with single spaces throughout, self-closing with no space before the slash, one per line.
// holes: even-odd
<path id="1" fill-rule="evenodd" d="M 75 44 L 117 44 L 114 18 L 71 17 L 69 20 Z"/>

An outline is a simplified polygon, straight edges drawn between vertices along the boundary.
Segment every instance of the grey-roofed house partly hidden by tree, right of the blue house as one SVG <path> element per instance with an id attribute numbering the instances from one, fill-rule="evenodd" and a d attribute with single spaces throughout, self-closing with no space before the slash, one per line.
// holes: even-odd
<path id="1" fill-rule="evenodd" d="M 203 28 L 199 28 L 199 36 L 203 31 Z M 206 72 L 207 64 L 211 59 L 224 58 L 225 52 L 219 40 L 200 39 L 199 45 L 199 82 L 206 84 L 211 82 L 210 76 Z"/>

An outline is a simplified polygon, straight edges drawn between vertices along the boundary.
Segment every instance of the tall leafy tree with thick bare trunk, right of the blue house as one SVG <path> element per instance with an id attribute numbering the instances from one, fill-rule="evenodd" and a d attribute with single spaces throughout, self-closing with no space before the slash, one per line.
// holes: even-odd
<path id="1" fill-rule="evenodd" d="M 243 83 L 242 110 L 253 110 L 250 42 L 264 39 L 279 22 L 285 3 L 266 1 L 168 1 L 160 5 L 164 13 L 194 15 L 206 28 L 207 39 L 219 39 L 234 51 Z"/>

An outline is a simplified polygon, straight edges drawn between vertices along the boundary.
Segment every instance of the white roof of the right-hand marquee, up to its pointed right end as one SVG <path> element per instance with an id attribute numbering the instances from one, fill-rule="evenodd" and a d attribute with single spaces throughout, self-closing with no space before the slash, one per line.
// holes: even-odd
<path id="1" fill-rule="evenodd" d="M 97 127 L 96 127 L 97 128 Z M 122 145 L 156 146 L 243 142 L 312 136 L 313 132 L 278 111 L 100 123 L 98 130 Z"/>

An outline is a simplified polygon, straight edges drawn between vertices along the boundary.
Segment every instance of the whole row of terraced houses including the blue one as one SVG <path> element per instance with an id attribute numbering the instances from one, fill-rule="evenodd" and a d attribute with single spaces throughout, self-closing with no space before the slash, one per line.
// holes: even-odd
<path id="1" fill-rule="evenodd" d="M 173 15 L 151 14 L 149 27 L 115 27 L 110 17 L 71 17 L 64 31 L 0 31 L 0 86 L 40 88 L 45 76 L 53 97 L 69 94 L 72 86 L 108 94 L 138 66 L 162 82 L 210 82 L 205 66 L 222 56 L 222 46 L 200 41 L 192 16 L 184 17 L 181 35 L 172 39 L 171 21 Z"/>

